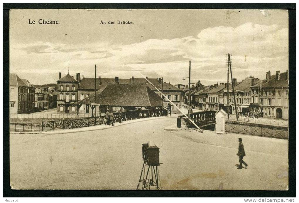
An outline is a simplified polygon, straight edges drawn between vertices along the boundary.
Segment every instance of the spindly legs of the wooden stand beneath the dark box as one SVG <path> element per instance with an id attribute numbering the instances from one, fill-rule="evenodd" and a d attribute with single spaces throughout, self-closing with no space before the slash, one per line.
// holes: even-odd
<path id="1" fill-rule="evenodd" d="M 145 174 L 145 169 L 147 166 L 148 166 L 147 173 Z M 149 171 L 149 169 L 151 169 L 151 171 Z M 143 179 L 141 179 L 142 174 L 143 174 Z M 147 179 L 149 175 L 151 175 L 151 179 Z M 145 176 L 145 178 L 144 178 L 144 176 Z M 159 181 L 160 181 L 160 184 L 158 183 Z M 142 187 L 139 189 L 140 183 L 141 183 Z M 155 187 L 155 190 L 162 189 L 158 166 L 156 166 L 156 169 L 155 169 L 155 166 L 150 166 L 150 165 L 146 164 L 146 161 L 144 161 L 136 190 L 150 190 L 151 187 Z"/>

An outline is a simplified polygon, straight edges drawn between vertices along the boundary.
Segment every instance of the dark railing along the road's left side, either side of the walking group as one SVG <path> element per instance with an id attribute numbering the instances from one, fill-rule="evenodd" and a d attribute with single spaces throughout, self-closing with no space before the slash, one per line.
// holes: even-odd
<path id="1" fill-rule="evenodd" d="M 115 122 L 166 116 L 167 111 L 161 109 L 147 109 L 147 110 L 132 110 L 123 111 L 119 117 L 119 113 L 113 113 Z M 71 128 L 83 128 L 93 125 L 101 125 L 106 122 L 105 116 L 97 116 L 94 118 L 83 118 L 83 119 L 69 119 L 69 120 L 56 120 L 56 121 L 42 121 L 42 131 L 44 130 L 56 130 L 56 129 L 71 129 Z"/>

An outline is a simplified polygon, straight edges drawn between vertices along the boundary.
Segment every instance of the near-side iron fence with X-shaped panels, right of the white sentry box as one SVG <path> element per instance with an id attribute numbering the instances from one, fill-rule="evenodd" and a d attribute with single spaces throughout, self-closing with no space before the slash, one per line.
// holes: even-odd
<path id="1" fill-rule="evenodd" d="M 273 137 L 280 139 L 288 139 L 289 132 L 286 127 L 266 127 L 266 126 L 253 126 L 242 125 L 235 123 L 226 123 L 225 131 L 230 133 L 248 134 L 262 137 Z"/>

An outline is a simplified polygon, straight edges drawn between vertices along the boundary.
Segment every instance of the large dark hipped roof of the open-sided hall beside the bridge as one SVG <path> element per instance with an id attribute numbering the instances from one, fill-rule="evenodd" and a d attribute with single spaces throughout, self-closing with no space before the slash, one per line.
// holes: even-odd
<path id="1" fill-rule="evenodd" d="M 94 103 L 94 94 L 79 102 L 79 104 L 91 103 Z M 162 106 L 161 97 L 145 84 L 108 84 L 100 94 L 97 94 L 95 103 L 107 106 Z"/>

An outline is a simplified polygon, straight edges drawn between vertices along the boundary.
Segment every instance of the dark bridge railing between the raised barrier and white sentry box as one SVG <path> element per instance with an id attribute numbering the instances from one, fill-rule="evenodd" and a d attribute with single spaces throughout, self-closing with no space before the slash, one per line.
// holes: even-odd
<path id="1" fill-rule="evenodd" d="M 207 122 L 215 122 L 215 113 L 216 111 L 200 111 L 200 112 L 194 112 L 190 113 L 190 119 L 197 125 L 203 125 Z M 188 125 L 188 118 L 186 118 L 184 115 L 178 116 L 177 119 L 177 127 L 181 128 L 181 122 L 184 121 L 186 125 Z M 190 122 L 190 128 L 196 128 L 196 126 Z"/>

